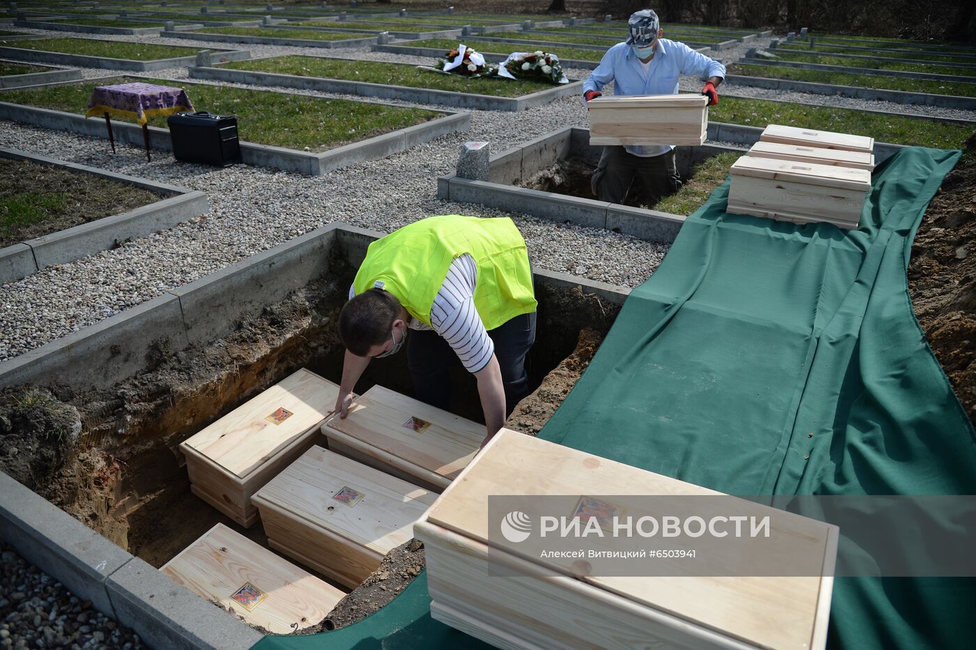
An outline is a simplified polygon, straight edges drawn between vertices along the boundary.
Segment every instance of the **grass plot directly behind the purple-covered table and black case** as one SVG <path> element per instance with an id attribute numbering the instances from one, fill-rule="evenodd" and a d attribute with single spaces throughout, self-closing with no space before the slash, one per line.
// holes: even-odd
<path id="1" fill-rule="evenodd" d="M 95 83 L 49 86 L 0 93 L 0 101 L 84 113 L 96 85 L 126 83 L 132 79 L 105 79 Z M 166 86 L 173 81 L 150 79 Z M 197 110 L 236 115 L 240 139 L 292 149 L 325 151 L 349 142 L 380 136 L 396 129 L 441 117 L 443 113 L 379 103 L 329 100 L 305 95 L 274 93 L 180 82 Z M 121 119 L 121 118 L 113 118 Z M 165 117 L 149 124 L 166 128 Z"/>

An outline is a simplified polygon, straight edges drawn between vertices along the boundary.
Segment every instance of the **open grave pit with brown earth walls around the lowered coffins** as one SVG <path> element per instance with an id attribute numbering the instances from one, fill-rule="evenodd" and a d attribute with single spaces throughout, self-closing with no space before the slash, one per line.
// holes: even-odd
<path id="1" fill-rule="evenodd" d="M 320 236 L 333 237 L 328 260 L 310 262 L 306 258 L 305 264 L 325 270 L 311 275 L 283 300 L 265 302 L 260 309 L 245 309 L 232 322 L 210 321 L 213 331 L 226 332 L 223 336 L 182 348 L 173 337 L 145 341 L 144 355 L 136 364 L 139 370 L 104 386 L 86 387 L 82 376 L 61 374 L 63 384 L 18 384 L 0 389 L 0 467 L 156 568 L 217 523 L 266 547 L 262 526 L 243 529 L 191 493 L 178 447 L 190 435 L 299 368 L 340 382 L 344 347 L 336 333 L 336 322 L 355 267 L 372 237 L 344 237 L 349 231 L 342 227 L 326 226 L 322 230 Z M 277 274 L 288 270 L 272 263 L 263 277 L 251 279 L 273 282 Z M 223 276 L 218 282 L 226 279 L 222 273 L 215 275 Z M 553 368 L 565 366 L 562 362 L 573 356 L 581 333 L 588 342 L 598 341 L 609 330 L 627 295 L 623 289 L 556 273 L 537 272 L 536 283 L 540 334 L 527 359 L 533 388 L 545 385 Z M 120 332 L 118 336 L 133 334 Z M 109 342 L 106 339 L 108 345 L 92 346 L 84 360 L 64 356 L 62 361 L 97 364 L 102 355 L 108 363 L 113 356 L 129 353 L 121 349 L 125 345 Z M 582 372 L 578 362 L 571 365 Z M 0 367 L 0 373 L 7 374 L 3 373 L 5 369 Z M 455 370 L 452 411 L 480 421 L 473 378 L 460 364 Z M 0 382 L 8 384 L 2 374 Z M 51 377 L 52 373 L 43 376 Z M 565 387 L 565 377 L 559 382 Z M 100 380 L 93 383 L 98 385 Z M 375 384 L 411 394 L 406 355 L 371 364 L 357 390 L 363 392 Z M 550 398 L 541 397 L 537 391 L 530 399 L 535 403 L 561 401 L 568 387 L 565 392 L 556 392 L 559 394 Z M 523 419 L 524 415 L 523 409 Z M 536 416 L 537 422 L 544 423 L 545 419 L 548 416 Z M 325 438 L 316 444 L 325 446 Z M 364 588 L 367 593 L 380 590 L 391 598 L 423 568 L 419 548 L 396 548 L 390 556 L 375 574 L 386 571 L 399 576 L 399 587 L 394 588 L 397 583 L 392 580 L 385 584 L 386 589 L 378 589 L 376 584 L 386 578 L 371 576 Z M 351 601 L 361 597 L 356 594 Z M 377 598 L 368 599 L 379 607 Z M 335 620 L 330 617 L 314 629 L 345 625 L 370 613 L 366 607 L 350 610 L 346 600 L 342 605 L 345 613 L 337 613 Z M 352 614 L 353 610 L 357 613 Z"/>

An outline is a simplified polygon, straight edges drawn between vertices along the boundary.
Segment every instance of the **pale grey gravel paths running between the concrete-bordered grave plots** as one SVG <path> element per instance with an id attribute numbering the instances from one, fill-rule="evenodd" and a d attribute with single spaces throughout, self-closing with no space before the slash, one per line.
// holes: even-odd
<path id="1" fill-rule="evenodd" d="M 70 32 L 24 31 L 58 37 L 86 36 Z M 237 47 L 160 36 L 98 38 L 201 48 Z M 722 51 L 716 58 L 724 62 L 736 61 L 754 46 L 741 45 Z M 268 45 L 239 47 L 250 50 L 255 57 L 328 54 L 364 60 L 429 62 L 426 58 L 372 53 L 364 49 L 323 51 Z M 102 69 L 84 69 L 83 73 L 86 78 L 114 74 Z M 589 71 L 568 70 L 567 74 L 581 79 Z M 172 68 L 152 75 L 180 80 L 187 78 L 187 70 Z M 701 83 L 686 79 L 682 80 L 681 87 L 694 92 L 701 89 Z M 288 92 L 348 97 L 310 91 Z M 760 93 L 768 91 L 740 87 L 728 94 L 761 96 Z M 830 105 L 850 102 L 851 107 L 883 108 L 887 105 L 886 102 L 845 101 L 803 94 L 777 94 L 775 99 Z M 900 108 L 905 110 L 905 107 Z M 940 114 L 950 117 L 958 112 L 943 111 Z M 587 124 L 586 110 L 578 98 L 551 102 L 517 114 L 471 111 L 471 127 L 465 134 L 445 136 L 414 146 L 382 161 L 361 163 L 325 176 L 303 177 L 241 165 L 223 170 L 178 165 L 168 156 L 157 156 L 152 163 L 146 163 L 139 146 L 123 144 L 113 155 L 101 138 L 0 122 L 0 144 L 4 146 L 40 151 L 63 160 L 203 190 L 211 201 L 211 212 L 200 219 L 0 286 L 0 360 L 139 305 L 168 289 L 325 223 L 344 222 L 388 232 L 427 215 L 494 216 L 498 214 L 496 211 L 483 206 L 436 198 L 436 179 L 453 171 L 463 142 L 487 140 L 492 143 L 493 150 L 502 151 L 556 129 L 585 127 Z M 593 280 L 635 286 L 653 272 L 667 253 L 667 246 L 605 230 L 519 215 L 513 217 L 525 235 L 536 264 Z"/>

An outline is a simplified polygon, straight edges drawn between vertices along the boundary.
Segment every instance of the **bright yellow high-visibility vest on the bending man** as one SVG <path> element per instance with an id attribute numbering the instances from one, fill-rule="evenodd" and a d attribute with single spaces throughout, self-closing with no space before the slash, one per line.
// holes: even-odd
<path id="1" fill-rule="evenodd" d="M 352 288 L 391 293 L 407 312 L 430 324 L 430 309 L 455 258 L 477 265 L 474 308 L 485 329 L 536 310 L 525 240 L 508 218 L 445 215 L 404 225 L 369 245 Z"/>

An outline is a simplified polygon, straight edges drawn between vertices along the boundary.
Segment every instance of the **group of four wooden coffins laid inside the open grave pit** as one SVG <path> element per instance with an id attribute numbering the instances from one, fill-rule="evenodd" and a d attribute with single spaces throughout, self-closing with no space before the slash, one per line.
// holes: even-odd
<path id="1" fill-rule="evenodd" d="M 312 574 L 354 589 L 408 542 L 484 426 L 382 386 L 340 419 L 338 394 L 302 369 L 184 441 L 193 493 L 244 528 L 260 518 L 273 550 L 217 524 L 161 571 L 287 632 L 318 623 L 345 595 Z"/>

